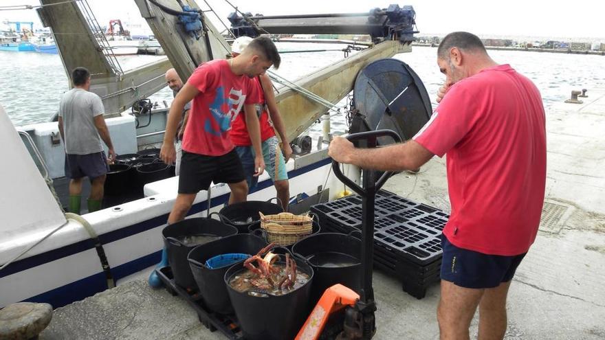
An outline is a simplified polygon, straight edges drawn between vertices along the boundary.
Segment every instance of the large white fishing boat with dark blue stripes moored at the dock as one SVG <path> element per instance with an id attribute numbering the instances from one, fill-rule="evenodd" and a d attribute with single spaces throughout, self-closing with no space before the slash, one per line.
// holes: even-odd
<path id="1" fill-rule="evenodd" d="M 54 2 L 41 1 L 43 5 Z M 230 54 L 228 43 L 210 22 L 203 21 L 203 32 L 208 32 L 203 37 L 202 27 L 185 31 L 178 16 L 166 10 L 169 6 L 174 7 L 175 1 L 136 2 L 167 58 L 126 72 L 113 55 L 104 50 L 107 46 L 98 39 L 98 27 L 91 26 L 96 19 L 89 16 L 91 12 L 87 10 L 86 1 L 47 6 L 40 12 L 43 22 L 50 25 L 53 32 L 64 33 L 54 38 L 65 69 L 86 66 L 94 75 L 90 91 L 98 93 L 104 102 L 105 120 L 118 154 L 135 153 L 162 141 L 168 109 L 147 107 L 141 100 L 165 86 L 164 72 L 168 68 L 175 67 L 181 78 L 186 79 L 195 65 Z M 203 16 L 203 13 L 195 14 Z M 304 20 L 294 16 L 253 18 L 254 26 L 239 15 L 232 16 L 232 30 L 236 35 L 279 34 L 294 27 L 294 32 L 313 34 L 332 30 L 373 37 L 373 43 L 368 47 L 353 51 L 357 53 L 308 76 L 284 82 L 286 85 L 278 88 L 276 101 L 281 112 L 287 113 L 283 119 L 290 139 L 304 133 L 327 113 L 329 103 L 338 102 L 350 93 L 355 78 L 366 65 L 394 54 L 411 52 L 410 43 L 416 32 L 415 12 L 411 6 L 391 5 L 366 14 L 336 16 L 338 20 L 333 21 L 326 21 L 326 14 L 309 15 L 302 18 Z M 288 22 L 289 27 L 285 27 L 284 22 Z M 74 49 L 76 45 L 78 49 Z M 415 128 L 419 129 L 430 115 L 426 90 L 415 79 L 410 82 L 406 95 L 415 96 L 416 102 L 421 103 L 421 109 L 410 110 L 416 112 L 419 123 Z M 391 100 L 394 102 L 397 98 L 393 96 Z M 133 104 L 137 108 L 135 111 L 124 112 Z M 384 110 L 389 103 L 380 105 Z M 116 280 L 159 262 L 162 249 L 159 235 L 166 227 L 168 213 L 175 201 L 177 177 L 146 184 L 144 197 L 140 199 L 80 217 L 66 217 L 61 207 L 66 205 L 68 180 L 63 173 L 65 154 L 56 122 L 17 126 L 15 131 L 5 113 L 0 116 L 3 120 L 0 138 L 7 146 L 4 150 L 10 152 L 6 157 L 15 160 L 11 174 L 2 179 L 3 193 L 10 194 L 10 199 L 5 196 L 3 201 L 7 204 L 0 209 L 3 215 L 11 217 L 0 230 L 0 263 L 3 264 L 0 306 L 30 301 L 48 302 L 58 308 L 104 291 L 114 286 Z M 377 121 L 382 122 L 380 117 Z M 307 197 L 298 201 L 301 206 L 307 205 L 307 209 L 312 203 L 338 197 L 342 191 L 342 183 L 331 172 L 327 148 L 322 143 L 318 145 L 319 148 L 297 155 L 286 165 L 290 191 L 299 198 Z M 343 172 L 355 183 L 360 183 L 358 168 L 344 166 Z M 212 185 L 209 190 L 199 192 L 188 217 L 208 216 L 208 213 L 218 211 L 229 194 L 228 186 L 224 184 Z M 86 191 L 83 196 L 87 196 Z M 265 173 L 248 199 L 267 201 L 274 196 L 272 182 Z M 30 204 L 25 206 L 21 204 L 23 201 Z M 99 258 L 101 253 L 106 254 L 106 260 L 103 260 L 104 256 Z"/>

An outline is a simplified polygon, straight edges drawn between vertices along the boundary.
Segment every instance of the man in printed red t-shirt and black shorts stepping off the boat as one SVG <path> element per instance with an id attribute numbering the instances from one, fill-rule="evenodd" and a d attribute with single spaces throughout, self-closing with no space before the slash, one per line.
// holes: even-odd
<path id="1" fill-rule="evenodd" d="M 176 159 L 174 139 L 177 125 L 185 104 L 192 101 L 190 117 L 182 142 L 179 193 L 168 224 L 185 218 L 195 196 L 208 189 L 210 183 L 227 183 L 231 190 L 229 203 L 242 202 L 248 196 L 248 185 L 234 145 L 228 136 L 231 122 L 245 113 L 252 146 L 258 155 L 254 160 L 256 176 L 265 170 L 261 152 L 259 118 L 254 104 L 260 102 L 259 89 L 253 78 L 265 73 L 272 65 L 277 68 L 281 58 L 270 38 L 255 38 L 246 51 L 230 60 L 211 60 L 199 65 L 177 93 L 170 105 L 164 143 L 159 157 L 171 164 Z M 162 253 L 162 265 L 166 262 L 166 249 Z M 162 282 L 151 273 L 151 286 Z"/>

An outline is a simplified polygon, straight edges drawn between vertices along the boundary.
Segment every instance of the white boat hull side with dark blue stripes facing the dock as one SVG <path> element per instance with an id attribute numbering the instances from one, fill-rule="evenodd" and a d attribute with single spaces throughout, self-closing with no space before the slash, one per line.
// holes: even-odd
<path id="1" fill-rule="evenodd" d="M 316 161 L 307 165 L 301 163 L 303 166 L 300 167 L 289 166 L 291 192 L 313 195 L 321 185 L 337 188 L 338 179 L 330 172 L 331 159 L 327 157 L 325 150 L 320 157 L 314 158 Z M 229 194 L 228 185 L 214 185 L 210 211 L 218 212 L 228 201 Z M 206 216 L 206 195 L 206 191 L 198 194 L 189 217 Z M 163 247 L 162 229 L 166 226 L 168 214 L 174 204 L 173 196 L 174 193 L 156 194 L 83 216 L 99 234 L 114 280 L 159 262 Z M 248 199 L 267 201 L 274 196 L 272 181 L 265 178 L 250 193 Z M 72 234 L 80 234 L 77 242 L 47 249 L 13 262 L 0 272 L 0 307 L 27 301 L 46 302 L 58 308 L 107 289 L 107 279 L 94 242 L 85 236 L 83 228 L 77 224 L 73 227 L 78 230 L 72 230 Z M 66 229 L 74 229 L 73 227 L 68 225 Z M 107 229 L 111 230 L 102 233 L 102 230 Z M 57 233 L 45 242 L 57 242 L 60 238 L 65 240 L 70 236 Z"/>

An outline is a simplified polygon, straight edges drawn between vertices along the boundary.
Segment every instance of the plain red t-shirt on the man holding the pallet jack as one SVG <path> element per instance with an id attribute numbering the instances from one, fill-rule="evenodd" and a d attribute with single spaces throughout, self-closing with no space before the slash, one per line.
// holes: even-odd
<path id="1" fill-rule="evenodd" d="M 456 82 L 413 138 L 447 152 L 452 212 L 443 234 L 456 247 L 525 253 L 540 224 L 546 182 L 542 97 L 509 65 Z"/>

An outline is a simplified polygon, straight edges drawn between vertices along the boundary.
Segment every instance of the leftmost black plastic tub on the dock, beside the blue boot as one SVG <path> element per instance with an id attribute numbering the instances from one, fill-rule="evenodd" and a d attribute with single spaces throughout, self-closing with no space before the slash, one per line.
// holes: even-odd
<path id="1" fill-rule="evenodd" d="M 237 229 L 212 218 L 187 218 L 165 227 L 162 236 L 164 236 L 164 247 L 168 253 L 168 263 L 172 267 L 175 283 L 191 291 L 197 291 L 187 254 L 199 244 L 188 244 L 183 238 L 200 236 L 204 241 L 212 242 L 235 234 Z"/>

